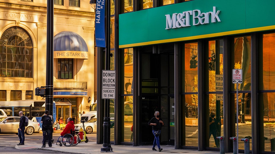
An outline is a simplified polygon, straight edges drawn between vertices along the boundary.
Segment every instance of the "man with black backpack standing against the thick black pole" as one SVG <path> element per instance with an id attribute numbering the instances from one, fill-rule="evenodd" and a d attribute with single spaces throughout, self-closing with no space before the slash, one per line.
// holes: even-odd
<path id="1" fill-rule="evenodd" d="M 45 115 L 42 116 L 41 118 L 41 123 L 42 123 L 42 132 L 43 132 L 43 141 L 42 141 L 42 147 L 46 147 L 46 137 L 48 137 L 48 145 L 49 147 L 52 147 L 52 142 L 51 142 L 51 129 L 53 127 L 53 120 L 51 117 L 48 115 L 49 111 L 45 110 Z"/>

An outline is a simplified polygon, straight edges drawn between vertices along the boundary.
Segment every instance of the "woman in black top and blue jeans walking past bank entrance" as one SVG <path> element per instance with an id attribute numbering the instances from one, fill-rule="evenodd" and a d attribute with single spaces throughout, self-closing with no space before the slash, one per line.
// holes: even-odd
<path id="1" fill-rule="evenodd" d="M 155 149 L 155 146 L 157 145 L 157 147 L 159 148 L 159 152 L 161 152 L 162 148 L 160 148 L 160 136 L 156 136 L 154 131 L 159 131 L 159 134 L 160 134 L 161 127 L 164 125 L 164 123 L 160 118 L 160 112 L 156 111 L 154 113 L 154 116 L 155 117 L 153 117 L 148 122 L 148 125 L 152 126 L 152 132 L 153 132 L 153 135 L 155 136 L 152 150 L 157 151 L 157 149 Z"/>

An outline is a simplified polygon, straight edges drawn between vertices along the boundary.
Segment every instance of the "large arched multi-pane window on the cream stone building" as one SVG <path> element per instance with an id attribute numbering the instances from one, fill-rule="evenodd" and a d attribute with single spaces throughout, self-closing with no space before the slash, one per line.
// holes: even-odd
<path id="1" fill-rule="evenodd" d="M 20 27 L 9 27 L 0 39 L 0 77 L 32 77 L 32 39 Z"/>

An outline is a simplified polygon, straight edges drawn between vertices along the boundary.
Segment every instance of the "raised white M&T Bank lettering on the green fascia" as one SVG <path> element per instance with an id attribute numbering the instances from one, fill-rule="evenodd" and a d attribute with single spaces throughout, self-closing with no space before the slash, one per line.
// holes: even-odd
<path id="1" fill-rule="evenodd" d="M 190 19 L 193 19 L 193 25 L 209 24 L 211 22 L 221 22 L 219 19 L 220 10 L 216 11 L 216 6 L 213 6 L 213 11 L 202 12 L 200 10 L 184 11 L 182 13 L 166 14 L 166 28 L 180 28 L 191 26 Z"/>

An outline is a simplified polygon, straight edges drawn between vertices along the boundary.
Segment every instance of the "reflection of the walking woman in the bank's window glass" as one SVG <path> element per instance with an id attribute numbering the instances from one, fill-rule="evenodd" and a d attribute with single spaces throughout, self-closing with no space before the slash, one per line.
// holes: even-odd
<path id="1" fill-rule="evenodd" d="M 217 126 L 220 125 L 219 122 L 217 122 L 217 119 L 215 118 L 216 113 L 211 111 L 210 112 L 210 117 L 209 117 L 209 139 L 211 137 L 211 134 L 214 137 L 215 140 L 215 144 L 217 146 L 217 148 L 219 148 L 219 142 L 217 137 Z"/>

